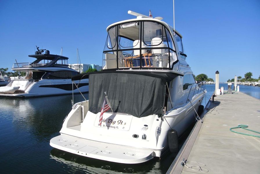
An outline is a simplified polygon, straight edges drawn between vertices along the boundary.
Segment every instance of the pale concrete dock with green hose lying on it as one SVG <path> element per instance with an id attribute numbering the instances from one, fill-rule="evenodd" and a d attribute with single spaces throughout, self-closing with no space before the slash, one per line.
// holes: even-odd
<path id="1" fill-rule="evenodd" d="M 245 124 L 260 132 L 260 100 L 235 91 L 214 100 L 206 106 L 203 123 L 196 123 L 167 173 L 260 173 L 260 138 L 230 131 Z M 260 135 L 241 128 L 233 130 Z M 183 159 L 194 170 L 182 166 Z"/>

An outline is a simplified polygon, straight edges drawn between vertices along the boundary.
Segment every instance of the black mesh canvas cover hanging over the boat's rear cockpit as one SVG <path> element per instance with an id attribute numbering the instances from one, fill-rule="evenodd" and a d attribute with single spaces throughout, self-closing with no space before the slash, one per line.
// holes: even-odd
<path id="1" fill-rule="evenodd" d="M 101 111 L 106 91 L 114 112 L 131 114 L 135 117 L 162 114 L 165 84 L 161 78 L 146 75 L 89 74 L 89 111 L 95 114 Z"/>

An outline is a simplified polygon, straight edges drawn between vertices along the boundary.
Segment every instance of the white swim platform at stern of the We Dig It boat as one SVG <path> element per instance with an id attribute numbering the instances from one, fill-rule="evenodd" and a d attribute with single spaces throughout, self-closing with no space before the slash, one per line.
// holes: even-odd
<path id="1" fill-rule="evenodd" d="M 95 142 L 69 135 L 52 138 L 50 145 L 77 155 L 125 164 L 138 164 L 154 157 L 154 152 L 151 150 Z"/>

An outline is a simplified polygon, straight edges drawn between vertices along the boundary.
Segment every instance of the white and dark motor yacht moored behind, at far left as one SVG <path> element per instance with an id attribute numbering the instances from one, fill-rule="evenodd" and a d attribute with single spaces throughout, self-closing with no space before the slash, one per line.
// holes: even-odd
<path id="1" fill-rule="evenodd" d="M 79 72 L 68 68 L 68 57 L 51 55 L 48 50 L 37 47 L 32 63 L 15 63 L 12 70 L 24 72 L 26 77 L 15 79 L 7 86 L 0 87 L 0 97 L 39 97 L 63 95 L 89 91 L 88 79 L 71 82 Z M 80 91 L 79 91 L 80 90 Z"/>

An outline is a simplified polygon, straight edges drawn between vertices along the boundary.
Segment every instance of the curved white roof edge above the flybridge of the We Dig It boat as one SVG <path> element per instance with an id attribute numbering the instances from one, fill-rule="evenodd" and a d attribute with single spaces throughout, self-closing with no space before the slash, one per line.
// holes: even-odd
<path id="1" fill-rule="evenodd" d="M 109 25 L 107 28 L 106 28 L 106 31 L 108 32 L 109 28 L 111 28 L 112 26 L 115 26 L 115 25 L 118 25 L 118 24 L 121 24 L 121 23 L 126 23 L 126 22 L 133 22 L 133 21 L 155 21 L 155 22 L 158 22 L 158 23 L 161 23 L 162 25 L 164 25 L 166 28 L 168 28 L 169 31 L 173 31 L 173 28 L 168 25 L 166 22 L 164 21 L 161 21 L 159 19 L 154 19 L 154 18 L 135 18 L 135 19 L 127 19 L 127 20 L 124 20 L 124 21 L 119 21 L 119 22 L 116 22 L 116 23 L 113 23 L 111 25 Z M 175 30 L 175 33 L 178 34 L 181 38 L 182 38 L 182 35 L 177 31 Z"/>

